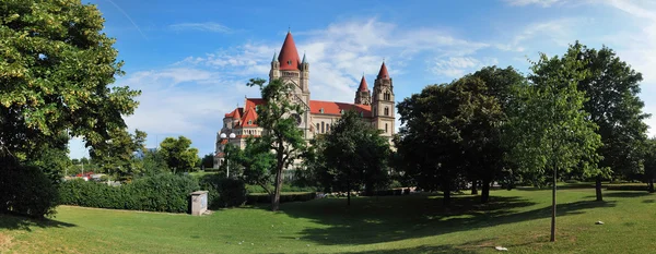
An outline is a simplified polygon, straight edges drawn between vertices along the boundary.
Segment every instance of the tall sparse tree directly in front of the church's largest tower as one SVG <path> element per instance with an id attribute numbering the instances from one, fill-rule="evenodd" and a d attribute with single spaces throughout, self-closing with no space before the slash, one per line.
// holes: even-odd
<path id="1" fill-rule="evenodd" d="M 257 124 L 266 131 L 261 140 L 276 154 L 276 184 L 271 197 L 271 210 L 280 206 L 280 191 L 282 189 L 282 170 L 291 166 L 298 155 L 305 149 L 303 133 L 294 116 L 302 116 L 305 109 L 294 102 L 289 92 L 294 89 L 294 84 L 281 80 L 273 80 L 265 85 L 265 80 L 251 78 L 248 86 L 258 86 L 265 104 L 256 109 Z"/>

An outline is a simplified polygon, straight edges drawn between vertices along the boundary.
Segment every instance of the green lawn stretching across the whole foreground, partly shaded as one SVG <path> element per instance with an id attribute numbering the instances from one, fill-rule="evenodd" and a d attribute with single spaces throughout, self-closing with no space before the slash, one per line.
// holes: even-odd
<path id="1" fill-rule="evenodd" d="M 0 253 L 653 253 L 656 195 L 559 191 L 558 241 L 549 243 L 550 191 L 493 191 L 493 203 L 457 196 L 318 199 L 211 216 L 59 207 L 32 221 L 0 215 Z M 595 225 L 602 220 L 605 225 Z"/>

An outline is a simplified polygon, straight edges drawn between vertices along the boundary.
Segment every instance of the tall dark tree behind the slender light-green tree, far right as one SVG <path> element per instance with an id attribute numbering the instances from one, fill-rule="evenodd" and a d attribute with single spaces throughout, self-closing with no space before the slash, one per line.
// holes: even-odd
<path id="1" fill-rule="evenodd" d="M 602 156 L 601 170 L 593 174 L 597 201 L 602 201 L 601 180 L 611 172 L 616 176 L 642 172 L 639 147 L 646 140 L 647 124 L 643 120 L 649 117 L 642 111 L 644 102 L 639 97 L 642 74 L 608 47 L 597 51 L 576 41 L 570 48 L 567 53 L 575 55 L 572 57 L 584 63 L 579 71 L 588 73 L 578 82 L 577 88 L 585 92 L 584 109 L 599 126 L 597 133 L 604 143 L 597 150 Z"/>

